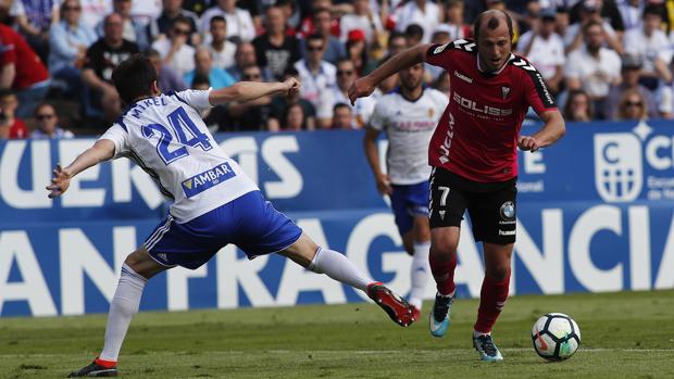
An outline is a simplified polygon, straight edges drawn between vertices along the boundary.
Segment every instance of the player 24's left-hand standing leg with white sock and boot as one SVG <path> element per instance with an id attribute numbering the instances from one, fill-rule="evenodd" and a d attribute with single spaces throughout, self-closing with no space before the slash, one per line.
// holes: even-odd
<path id="1" fill-rule="evenodd" d="M 150 257 L 145 248 L 140 248 L 128 255 L 122 266 L 117 289 L 110 302 L 103 350 L 91 364 L 71 372 L 68 378 L 117 376 L 117 356 L 128 326 L 138 313 L 140 296 L 148 281 L 147 278 L 151 278 L 164 269 L 165 267 Z"/>

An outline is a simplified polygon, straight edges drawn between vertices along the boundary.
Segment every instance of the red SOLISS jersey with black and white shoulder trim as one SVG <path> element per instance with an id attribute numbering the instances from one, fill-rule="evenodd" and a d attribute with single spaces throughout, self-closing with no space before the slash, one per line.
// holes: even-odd
<path id="1" fill-rule="evenodd" d="M 542 76 L 514 54 L 500 72 L 485 74 L 476 43 L 466 39 L 430 47 L 426 61 L 445 68 L 451 83 L 429 164 L 479 182 L 517 176 L 517 137 L 529 105 L 538 114 L 557 109 Z"/>

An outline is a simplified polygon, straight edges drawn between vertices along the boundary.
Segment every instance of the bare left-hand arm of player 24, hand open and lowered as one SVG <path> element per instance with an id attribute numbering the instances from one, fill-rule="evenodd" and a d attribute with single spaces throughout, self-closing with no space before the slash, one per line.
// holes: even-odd
<path id="1" fill-rule="evenodd" d="M 115 144 L 109 139 L 99 139 L 92 147 L 79 154 L 73 163 L 66 167 L 57 165 L 53 169 L 53 178 L 51 185 L 47 186 L 49 198 L 58 198 L 62 195 L 71 185 L 71 178 L 83 170 L 97 165 L 103 161 L 111 160 L 114 156 Z"/>

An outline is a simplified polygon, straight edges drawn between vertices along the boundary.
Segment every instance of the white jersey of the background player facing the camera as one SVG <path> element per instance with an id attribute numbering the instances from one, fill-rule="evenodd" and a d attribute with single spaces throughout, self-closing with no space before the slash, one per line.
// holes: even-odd
<path id="1" fill-rule="evenodd" d="M 370 127 L 388 137 L 386 166 L 394 185 L 428 180 L 428 143 L 448 102 L 445 93 L 433 88 L 425 88 L 416 100 L 398 90 L 377 101 Z"/>

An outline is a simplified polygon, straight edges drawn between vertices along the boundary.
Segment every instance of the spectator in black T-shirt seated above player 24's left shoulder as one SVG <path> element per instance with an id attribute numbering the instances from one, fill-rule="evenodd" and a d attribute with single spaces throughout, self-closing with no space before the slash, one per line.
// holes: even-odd
<path id="1" fill-rule="evenodd" d="M 122 38 L 123 18 L 112 13 L 103 18 L 103 37 L 89 49 L 82 72 L 83 80 L 89 86 L 91 106 L 103 112 L 107 122 L 114 121 L 122 111 L 117 90 L 112 85 L 112 71 L 133 54 L 138 53 L 138 45 Z M 91 111 L 87 111 L 95 115 Z"/>

